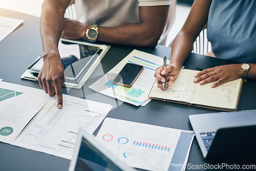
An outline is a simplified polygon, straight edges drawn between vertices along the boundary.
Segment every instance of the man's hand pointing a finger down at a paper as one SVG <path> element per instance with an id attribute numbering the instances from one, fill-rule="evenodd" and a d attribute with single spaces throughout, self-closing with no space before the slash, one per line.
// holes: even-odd
<path id="1" fill-rule="evenodd" d="M 38 75 L 39 85 L 49 96 L 57 96 L 58 109 L 62 108 L 62 84 L 64 68 L 58 54 L 43 56 L 44 65 Z"/>

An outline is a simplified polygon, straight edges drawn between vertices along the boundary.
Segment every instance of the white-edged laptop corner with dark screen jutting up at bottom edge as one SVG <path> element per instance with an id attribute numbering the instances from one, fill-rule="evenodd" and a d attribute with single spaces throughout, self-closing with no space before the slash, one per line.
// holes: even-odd
<path id="1" fill-rule="evenodd" d="M 76 147 L 70 162 L 69 171 L 135 171 L 134 168 L 116 158 L 108 149 L 95 140 L 94 135 L 89 135 L 80 129 Z"/>

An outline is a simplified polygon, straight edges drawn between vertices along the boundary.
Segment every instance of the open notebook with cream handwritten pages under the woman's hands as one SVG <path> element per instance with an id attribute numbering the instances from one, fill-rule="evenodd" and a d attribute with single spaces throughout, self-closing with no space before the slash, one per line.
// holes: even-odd
<path id="1" fill-rule="evenodd" d="M 195 70 L 182 69 L 177 79 L 165 91 L 160 90 L 155 82 L 148 97 L 222 111 L 237 111 L 242 78 L 211 88 L 211 83 L 194 83 L 194 75 L 197 73 Z"/>

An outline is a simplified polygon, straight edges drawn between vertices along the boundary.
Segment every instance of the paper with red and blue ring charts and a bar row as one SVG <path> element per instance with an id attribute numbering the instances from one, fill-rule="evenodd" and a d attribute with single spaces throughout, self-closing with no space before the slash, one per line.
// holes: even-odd
<path id="1" fill-rule="evenodd" d="M 96 139 L 127 165 L 168 170 L 181 133 L 168 127 L 105 118 Z"/>

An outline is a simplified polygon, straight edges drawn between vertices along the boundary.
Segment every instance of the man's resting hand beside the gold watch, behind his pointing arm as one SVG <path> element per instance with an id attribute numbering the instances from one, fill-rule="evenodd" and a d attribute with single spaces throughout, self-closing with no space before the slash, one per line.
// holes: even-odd
<path id="1" fill-rule="evenodd" d="M 81 39 L 86 37 L 85 35 L 88 28 L 89 25 L 84 25 L 74 19 L 65 18 L 61 37 L 67 39 Z"/>

